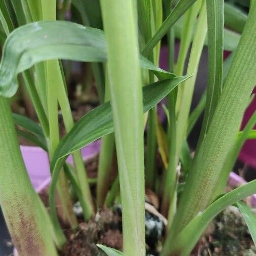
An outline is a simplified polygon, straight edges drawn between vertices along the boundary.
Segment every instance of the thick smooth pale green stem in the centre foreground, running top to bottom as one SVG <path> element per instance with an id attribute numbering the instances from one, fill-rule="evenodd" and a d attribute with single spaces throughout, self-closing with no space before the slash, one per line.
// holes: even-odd
<path id="1" fill-rule="evenodd" d="M 145 255 L 143 109 L 136 1 L 101 1 L 122 202 L 123 250 Z M 128 125 L 129 124 L 129 125 Z"/>

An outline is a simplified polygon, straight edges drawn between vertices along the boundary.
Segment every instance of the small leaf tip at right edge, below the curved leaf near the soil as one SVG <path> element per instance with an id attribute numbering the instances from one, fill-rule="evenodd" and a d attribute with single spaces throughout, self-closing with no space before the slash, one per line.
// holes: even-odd
<path id="1" fill-rule="evenodd" d="M 251 238 L 256 245 L 256 214 L 243 202 L 237 202 L 239 210 L 242 212 L 243 218 L 248 226 Z"/>

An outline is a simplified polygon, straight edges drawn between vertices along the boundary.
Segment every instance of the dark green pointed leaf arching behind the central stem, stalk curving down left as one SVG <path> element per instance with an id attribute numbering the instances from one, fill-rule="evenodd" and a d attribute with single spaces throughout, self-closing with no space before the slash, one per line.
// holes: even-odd
<path id="1" fill-rule="evenodd" d="M 176 88 L 178 84 L 188 78 L 189 76 L 174 77 L 143 87 L 144 112 L 153 108 L 168 93 L 170 93 L 170 91 Z M 52 184 L 50 186 L 49 198 L 51 216 L 54 222 L 58 223 L 58 216 L 55 208 L 55 189 L 61 167 L 67 156 L 113 131 L 111 105 L 107 102 L 80 118 L 70 132 L 60 141 L 51 162 Z"/>

